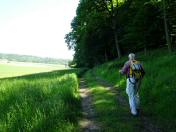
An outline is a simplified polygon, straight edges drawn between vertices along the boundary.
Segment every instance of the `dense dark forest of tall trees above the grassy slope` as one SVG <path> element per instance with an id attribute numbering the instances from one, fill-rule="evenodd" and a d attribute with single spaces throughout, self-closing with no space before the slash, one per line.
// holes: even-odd
<path id="1" fill-rule="evenodd" d="M 72 64 L 93 67 L 129 52 L 176 46 L 176 0 L 80 0 L 65 41 Z"/>

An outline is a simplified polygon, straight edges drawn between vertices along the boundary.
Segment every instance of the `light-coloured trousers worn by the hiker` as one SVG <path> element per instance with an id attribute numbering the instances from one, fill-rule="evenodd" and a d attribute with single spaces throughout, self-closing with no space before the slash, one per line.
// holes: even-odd
<path id="1" fill-rule="evenodd" d="M 129 97 L 129 105 L 131 109 L 131 113 L 133 115 L 137 114 L 137 109 L 139 109 L 140 105 L 140 99 L 139 99 L 139 86 L 140 82 L 136 82 L 134 78 L 127 78 L 127 87 L 126 87 L 126 93 Z"/>

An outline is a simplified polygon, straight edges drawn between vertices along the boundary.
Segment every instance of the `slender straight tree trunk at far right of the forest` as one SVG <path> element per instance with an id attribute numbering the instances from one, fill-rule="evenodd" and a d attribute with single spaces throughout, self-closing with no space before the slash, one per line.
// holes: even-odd
<path id="1" fill-rule="evenodd" d="M 166 35 L 166 42 L 167 42 L 167 45 L 168 45 L 169 53 L 171 53 L 172 52 L 172 46 L 171 46 L 171 40 L 170 40 L 169 30 L 168 30 L 168 25 L 167 25 L 165 0 L 163 0 L 163 15 L 164 15 L 164 29 L 165 29 L 165 35 Z"/>

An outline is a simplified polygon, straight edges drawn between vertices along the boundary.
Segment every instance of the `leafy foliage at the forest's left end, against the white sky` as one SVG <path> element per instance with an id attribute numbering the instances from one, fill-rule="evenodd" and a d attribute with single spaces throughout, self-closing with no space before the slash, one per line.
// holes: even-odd
<path id="1" fill-rule="evenodd" d="M 75 50 L 78 67 L 92 67 L 113 56 L 110 52 L 113 36 L 107 9 L 100 1 L 81 1 L 72 21 L 72 32 L 66 35 L 69 47 Z"/>

